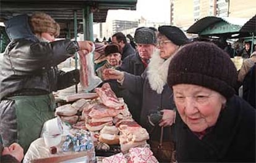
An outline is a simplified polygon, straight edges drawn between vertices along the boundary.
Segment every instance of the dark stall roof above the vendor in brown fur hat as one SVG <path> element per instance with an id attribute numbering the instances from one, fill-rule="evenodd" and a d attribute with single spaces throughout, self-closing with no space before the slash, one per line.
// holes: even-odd
<path id="1" fill-rule="evenodd" d="M 74 31 L 74 11 L 77 11 L 78 32 L 82 32 L 82 9 L 90 6 L 93 12 L 93 22 L 106 21 L 109 9 L 136 9 L 137 0 L 1 0 L 0 22 L 4 22 L 14 15 L 28 14 L 42 11 L 56 20 L 61 26 L 60 38 L 64 38 L 67 31 Z M 74 36 L 74 35 L 73 35 Z"/>

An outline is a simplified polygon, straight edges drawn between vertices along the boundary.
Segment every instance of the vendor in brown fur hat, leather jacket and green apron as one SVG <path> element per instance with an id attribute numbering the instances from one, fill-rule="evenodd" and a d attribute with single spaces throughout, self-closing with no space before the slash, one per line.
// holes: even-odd
<path id="1" fill-rule="evenodd" d="M 59 25 L 43 12 L 11 18 L 6 31 L 11 43 L 0 60 L 0 135 L 4 146 L 17 142 L 26 152 L 54 117 L 52 92 L 79 83 L 79 70 L 65 73 L 57 65 L 77 51 L 87 54 L 93 43 L 54 41 Z"/>

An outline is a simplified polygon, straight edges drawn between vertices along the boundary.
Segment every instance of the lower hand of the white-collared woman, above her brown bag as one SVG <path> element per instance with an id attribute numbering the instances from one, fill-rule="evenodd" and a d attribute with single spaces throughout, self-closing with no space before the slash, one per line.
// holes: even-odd
<path id="1" fill-rule="evenodd" d="M 163 109 L 161 111 L 163 112 L 163 117 L 159 122 L 160 127 L 173 125 L 175 121 L 175 111 L 172 109 Z"/>

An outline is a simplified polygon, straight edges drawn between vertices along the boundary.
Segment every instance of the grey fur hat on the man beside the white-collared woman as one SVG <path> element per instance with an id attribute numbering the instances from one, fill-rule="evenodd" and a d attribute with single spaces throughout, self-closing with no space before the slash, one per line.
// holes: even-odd
<path id="1" fill-rule="evenodd" d="M 137 28 L 134 34 L 136 44 L 156 44 L 155 31 L 147 27 Z"/>

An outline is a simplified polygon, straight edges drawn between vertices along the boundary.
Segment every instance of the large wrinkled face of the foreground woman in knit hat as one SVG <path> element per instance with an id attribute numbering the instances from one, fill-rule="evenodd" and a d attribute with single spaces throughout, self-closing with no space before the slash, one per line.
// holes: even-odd
<path id="1" fill-rule="evenodd" d="M 177 111 L 192 132 L 203 132 L 215 125 L 226 103 L 220 93 L 198 85 L 177 84 L 173 93 Z"/>

